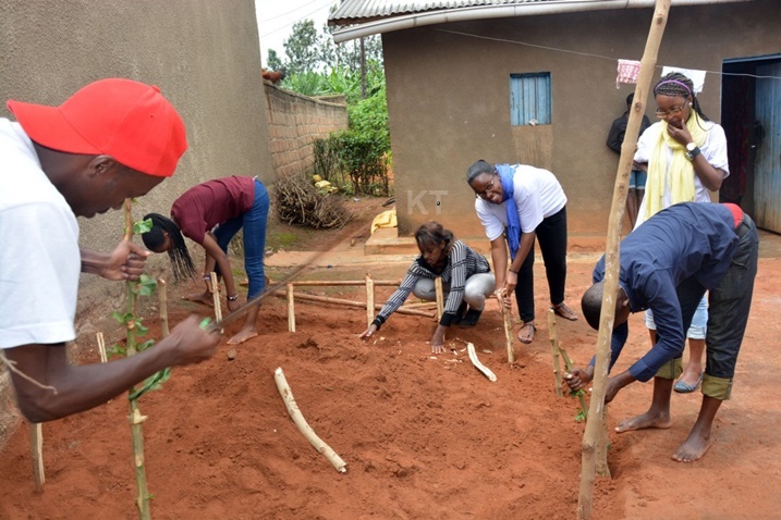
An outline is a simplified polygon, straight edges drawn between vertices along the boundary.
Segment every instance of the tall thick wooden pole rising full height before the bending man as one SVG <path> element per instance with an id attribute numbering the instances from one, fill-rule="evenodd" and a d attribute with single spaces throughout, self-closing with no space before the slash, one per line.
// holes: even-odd
<path id="1" fill-rule="evenodd" d="M 586 431 L 583 435 L 583 456 L 581 467 L 581 488 L 577 502 L 577 518 L 590 519 L 594 502 L 594 479 L 597 467 L 597 445 L 607 441 L 607 432 L 603 424 L 606 406 L 605 394 L 608 383 L 608 367 L 610 363 L 610 338 L 613 331 L 615 299 L 619 288 L 619 242 L 621 220 L 626 206 L 626 193 L 629 189 L 630 170 L 637 136 L 639 135 L 640 122 L 645 113 L 645 101 L 650 89 L 654 69 L 659 53 L 664 27 L 667 25 L 670 0 L 657 0 L 651 21 L 650 30 L 646 40 L 646 47 L 640 60 L 640 72 L 635 86 L 635 96 L 630 109 L 630 117 L 626 123 L 624 143 L 621 146 L 621 158 L 615 175 L 613 199 L 608 221 L 608 240 L 605 252 L 605 294 L 602 296 L 602 312 L 599 319 L 599 334 L 597 338 L 597 361 L 594 371 L 591 403 L 588 410 L 589 421 L 586 422 Z M 607 466 L 607 463 L 605 465 Z"/>

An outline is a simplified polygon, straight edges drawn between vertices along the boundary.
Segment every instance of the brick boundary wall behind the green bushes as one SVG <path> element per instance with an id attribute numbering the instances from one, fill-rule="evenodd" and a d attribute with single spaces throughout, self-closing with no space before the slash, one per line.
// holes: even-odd
<path id="1" fill-rule="evenodd" d="M 347 128 L 344 97 L 310 98 L 264 83 L 269 148 L 276 175 L 312 172 L 315 139 Z"/>

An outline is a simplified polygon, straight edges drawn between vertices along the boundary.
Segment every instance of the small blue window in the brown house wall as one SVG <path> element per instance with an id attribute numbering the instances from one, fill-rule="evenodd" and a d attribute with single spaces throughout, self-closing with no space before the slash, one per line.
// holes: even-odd
<path id="1" fill-rule="evenodd" d="M 550 124 L 550 73 L 510 74 L 510 123 Z"/>

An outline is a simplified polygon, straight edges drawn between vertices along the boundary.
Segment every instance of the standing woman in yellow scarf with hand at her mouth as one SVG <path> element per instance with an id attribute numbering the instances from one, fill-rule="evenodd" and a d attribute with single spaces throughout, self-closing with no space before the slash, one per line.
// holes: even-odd
<path id="1" fill-rule="evenodd" d="M 661 121 L 643 133 L 634 157 L 635 165 L 648 172 L 635 228 L 672 205 L 710 202 L 708 190 L 717 191 L 730 174 L 724 129 L 703 113 L 687 76 L 679 72 L 664 75 L 654 87 L 654 99 Z M 675 392 L 694 392 L 701 381 L 707 324 L 708 302 L 704 297 L 686 331 L 688 363 L 673 387 Z M 646 325 L 655 344 L 656 323 L 650 310 Z"/>

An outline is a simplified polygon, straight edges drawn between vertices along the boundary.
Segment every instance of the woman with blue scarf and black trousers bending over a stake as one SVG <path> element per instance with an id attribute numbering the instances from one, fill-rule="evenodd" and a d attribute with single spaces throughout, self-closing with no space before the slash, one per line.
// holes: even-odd
<path id="1" fill-rule="evenodd" d="M 535 237 L 545 261 L 551 308 L 566 320 L 577 320 L 564 304 L 566 196 L 556 176 L 525 164 L 493 165 L 480 160 L 469 166 L 466 182 L 475 191 L 475 211 L 491 243 L 497 287 L 503 288 L 505 305 L 508 295 L 515 292 L 522 321 L 518 341 L 532 343 L 536 330 Z"/>

